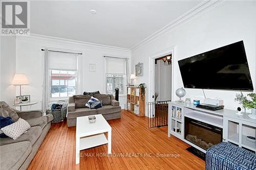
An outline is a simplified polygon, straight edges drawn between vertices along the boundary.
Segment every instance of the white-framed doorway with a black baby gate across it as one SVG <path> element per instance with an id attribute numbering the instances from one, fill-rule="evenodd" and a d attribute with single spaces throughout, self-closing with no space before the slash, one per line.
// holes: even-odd
<path id="1" fill-rule="evenodd" d="M 168 125 L 168 101 L 173 99 L 174 47 L 149 57 L 148 128 Z"/>

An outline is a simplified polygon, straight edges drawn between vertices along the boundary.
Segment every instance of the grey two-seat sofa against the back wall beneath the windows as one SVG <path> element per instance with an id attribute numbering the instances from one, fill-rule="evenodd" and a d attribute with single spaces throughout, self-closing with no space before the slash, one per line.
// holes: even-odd
<path id="1" fill-rule="evenodd" d="M 111 94 L 93 94 L 93 96 L 102 101 L 102 108 L 90 109 L 86 107 L 92 95 L 73 95 L 69 98 L 67 122 L 68 127 L 76 126 L 76 117 L 88 116 L 93 114 L 102 114 L 106 120 L 120 118 L 121 107 L 119 102 Z"/>

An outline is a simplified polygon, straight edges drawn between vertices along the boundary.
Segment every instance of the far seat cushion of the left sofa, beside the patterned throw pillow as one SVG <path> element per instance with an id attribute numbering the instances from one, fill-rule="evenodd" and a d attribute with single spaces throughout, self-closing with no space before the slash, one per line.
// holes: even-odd
<path id="1" fill-rule="evenodd" d="M 10 143 L 15 143 L 15 142 L 20 142 L 20 141 L 30 141 L 31 144 L 33 145 L 38 137 L 42 133 L 42 128 L 39 126 L 34 126 L 31 127 L 26 133 L 24 133 L 22 136 L 17 138 L 16 140 L 13 140 L 12 138 L 1 138 L 0 140 L 0 145 L 5 145 L 5 144 L 10 144 Z"/>

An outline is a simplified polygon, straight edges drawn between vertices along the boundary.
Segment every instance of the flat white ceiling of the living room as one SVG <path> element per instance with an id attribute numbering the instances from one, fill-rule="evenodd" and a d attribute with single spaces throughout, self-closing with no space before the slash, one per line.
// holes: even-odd
<path id="1" fill-rule="evenodd" d="M 31 33 L 131 48 L 201 2 L 31 1 Z"/>

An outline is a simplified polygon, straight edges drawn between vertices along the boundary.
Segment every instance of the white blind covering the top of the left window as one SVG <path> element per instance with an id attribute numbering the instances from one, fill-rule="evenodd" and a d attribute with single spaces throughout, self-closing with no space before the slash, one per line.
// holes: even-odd
<path id="1" fill-rule="evenodd" d="M 49 52 L 49 69 L 77 70 L 77 54 Z"/>

